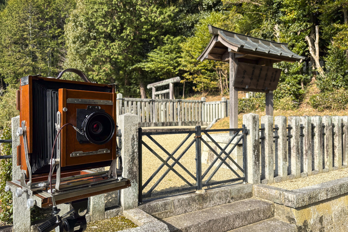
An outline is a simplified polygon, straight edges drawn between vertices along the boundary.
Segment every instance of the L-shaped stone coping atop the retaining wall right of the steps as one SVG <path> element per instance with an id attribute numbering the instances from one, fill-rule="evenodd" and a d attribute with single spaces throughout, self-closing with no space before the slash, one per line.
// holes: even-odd
<path id="1" fill-rule="evenodd" d="M 254 185 L 253 190 L 254 197 L 299 208 L 348 193 L 348 177 L 295 190 L 286 190 L 265 184 Z"/>

